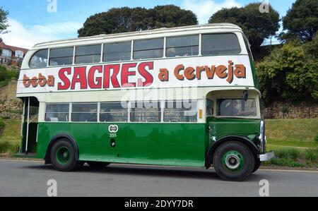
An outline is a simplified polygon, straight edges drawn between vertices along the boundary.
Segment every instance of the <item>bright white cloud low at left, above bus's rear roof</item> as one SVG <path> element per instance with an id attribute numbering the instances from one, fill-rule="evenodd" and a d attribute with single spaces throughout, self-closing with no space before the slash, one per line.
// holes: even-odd
<path id="1" fill-rule="evenodd" d="M 1 35 L 4 42 L 27 49 L 40 42 L 76 37 L 77 30 L 82 26 L 75 22 L 26 26 L 14 19 L 8 19 L 8 24 L 10 32 Z"/>

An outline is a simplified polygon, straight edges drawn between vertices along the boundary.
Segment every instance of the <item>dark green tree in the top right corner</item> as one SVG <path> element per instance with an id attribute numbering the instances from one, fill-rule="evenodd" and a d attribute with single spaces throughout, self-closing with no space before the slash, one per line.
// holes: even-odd
<path id="1" fill-rule="evenodd" d="M 283 17 L 281 40 L 298 37 L 302 42 L 311 41 L 318 30 L 318 1 L 297 0 Z"/>

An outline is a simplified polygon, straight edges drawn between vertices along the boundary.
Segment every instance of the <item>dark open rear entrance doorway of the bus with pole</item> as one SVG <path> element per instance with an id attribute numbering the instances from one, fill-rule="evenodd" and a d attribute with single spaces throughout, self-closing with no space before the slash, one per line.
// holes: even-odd
<path id="1" fill-rule="evenodd" d="M 38 116 L 39 116 L 39 101 L 37 100 L 37 98 L 35 97 L 23 98 L 20 154 L 36 155 Z"/>

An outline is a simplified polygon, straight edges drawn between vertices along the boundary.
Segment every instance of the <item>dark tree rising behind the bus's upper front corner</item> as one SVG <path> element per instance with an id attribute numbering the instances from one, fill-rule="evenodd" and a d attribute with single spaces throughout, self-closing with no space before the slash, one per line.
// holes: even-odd
<path id="1" fill-rule="evenodd" d="M 254 56 L 257 57 L 264 40 L 276 35 L 280 20 L 279 13 L 271 5 L 269 13 L 260 13 L 259 6 L 259 3 L 252 3 L 242 8 L 223 8 L 214 13 L 208 23 L 233 23 L 240 26 L 249 39 Z"/>

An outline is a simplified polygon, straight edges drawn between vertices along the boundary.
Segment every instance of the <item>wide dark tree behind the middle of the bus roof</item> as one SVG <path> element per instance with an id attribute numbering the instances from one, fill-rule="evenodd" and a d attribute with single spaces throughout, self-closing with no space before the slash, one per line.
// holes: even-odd
<path id="1" fill-rule="evenodd" d="M 162 27 L 195 25 L 198 21 L 192 11 L 178 6 L 155 6 L 155 8 L 111 8 L 104 13 L 90 16 L 78 30 L 78 37 L 120 32 L 151 30 Z"/>

